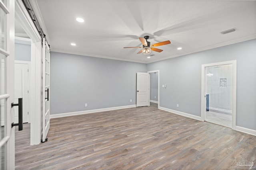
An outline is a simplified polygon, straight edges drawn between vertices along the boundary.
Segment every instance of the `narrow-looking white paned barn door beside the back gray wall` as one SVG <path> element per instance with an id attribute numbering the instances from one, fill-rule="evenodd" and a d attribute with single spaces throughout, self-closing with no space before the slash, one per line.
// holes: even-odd
<path id="1" fill-rule="evenodd" d="M 42 142 L 47 141 L 47 134 L 50 129 L 50 47 L 44 39 L 43 46 L 43 117 L 42 117 Z"/>

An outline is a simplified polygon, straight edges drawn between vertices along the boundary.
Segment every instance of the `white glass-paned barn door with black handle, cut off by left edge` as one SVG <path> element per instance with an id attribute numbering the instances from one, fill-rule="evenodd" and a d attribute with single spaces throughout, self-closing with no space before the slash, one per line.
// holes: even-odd
<path id="1" fill-rule="evenodd" d="M 11 37 L 11 38 L 10 38 Z M 15 168 L 14 1 L 0 1 L 0 169 Z"/>

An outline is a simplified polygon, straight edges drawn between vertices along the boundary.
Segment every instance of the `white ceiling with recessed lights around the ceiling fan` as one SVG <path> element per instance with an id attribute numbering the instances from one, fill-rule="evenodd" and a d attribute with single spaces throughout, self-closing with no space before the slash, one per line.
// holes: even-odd
<path id="1" fill-rule="evenodd" d="M 51 51 L 151 63 L 256 38 L 256 1 L 36 0 Z M 84 19 L 79 23 L 76 18 Z M 236 31 L 221 34 L 235 28 Z M 136 54 L 149 35 L 161 53 Z M 70 43 L 76 43 L 71 46 Z M 182 50 L 177 50 L 182 47 Z"/>

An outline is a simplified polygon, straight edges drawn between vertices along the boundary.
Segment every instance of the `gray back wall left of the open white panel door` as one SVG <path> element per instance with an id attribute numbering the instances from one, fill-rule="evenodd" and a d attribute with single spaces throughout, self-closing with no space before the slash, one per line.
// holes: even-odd
<path id="1" fill-rule="evenodd" d="M 136 72 L 146 72 L 146 64 L 56 52 L 50 57 L 51 114 L 136 104 Z"/>

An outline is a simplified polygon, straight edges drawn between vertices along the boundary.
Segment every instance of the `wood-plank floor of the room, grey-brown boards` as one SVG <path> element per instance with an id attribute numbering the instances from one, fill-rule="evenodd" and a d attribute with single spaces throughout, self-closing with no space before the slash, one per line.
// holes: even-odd
<path id="1" fill-rule="evenodd" d="M 40 145 L 29 145 L 29 128 L 16 127 L 17 170 L 222 170 L 240 169 L 241 159 L 256 166 L 256 136 L 153 103 L 51 119 L 48 141 Z"/>

